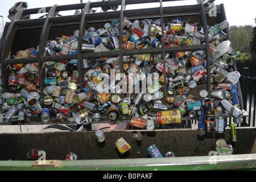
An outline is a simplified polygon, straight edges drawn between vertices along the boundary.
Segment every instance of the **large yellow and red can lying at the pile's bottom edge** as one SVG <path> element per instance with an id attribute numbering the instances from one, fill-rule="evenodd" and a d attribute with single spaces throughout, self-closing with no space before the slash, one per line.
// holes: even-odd
<path id="1" fill-rule="evenodd" d="M 159 125 L 166 125 L 170 123 L 181 123 L 180 110 L 158 111 Z"/>

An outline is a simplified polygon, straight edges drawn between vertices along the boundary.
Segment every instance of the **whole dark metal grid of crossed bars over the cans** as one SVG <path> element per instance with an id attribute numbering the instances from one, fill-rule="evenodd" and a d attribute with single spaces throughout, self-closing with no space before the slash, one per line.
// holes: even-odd
<path id="1" fill-rule="evenodd" d="M 173 0 L 173 1 L 181 1 L 181 0 Z M 151 2 L 159 2 L 159 7 L 154 7 L 150 9 L 141 9 L 141 10 L 125 10 L 126 5 L 131 4 L 137 4 L 137 3 L 151 3 Z M 201 16 L 201 20 L 203 22 L 204 32 L 207 32 L 207 20 L 205 17 L 205 10 L 204 5 L 201 2 L 200 5 L 187 5 L 187 6 L 175 6 L 175 7 L 163 7 L 163 2 L 170 2 L 167 0 L 143 0 L 143 1 L 134 1 L 134 0 L 122 0 L 122 1 L 111 1 L 112 6 L 119 6 L 121 5 L 120 11 L 110 11 L 110 12 L 104 12 L 104 13 L 89 13 L 89 10 L 93 7 L 102 7 L 102 6 L 109 6 L 107 4 L 102 5 L 102 2 L 87 2 L 87 3 L 81 3 L 81 4 L 75 4 L 75 5 L 64 5 L 64 6 L 53 6 L 53 7 L 46 7 L 46 12 L 48 13 L 47 17 L 45 19 L 35 19 L 35 20 L 20 20 L 20 17 L 24 14 L 36 14 L 40 9 L 21 9 L 16 15 L 14 16 L 13 21 L 10 23 L 9 29 L 7 31 L 7 38 L 2 48 L 2 54 L 1 54 L 1 62 L 2 62 L 2 76 L 3 76 L 3 82 L 6 90 L 8 91 L 8 80 L 9 80 L 9 67 L 7 65 L 9 64 L 28 64 L 28 63 L 39 63 L 39 71 L 40 71 L 40 82 L 41 84 L 41 90 L 46 86 L 44 84 L 44 77 L 45 77 L 45 62 L 46 61 L 58 61 L 58 60 L 71 60 L 71 59 L 77 59 L 78 60 L 78 69 L 79 74 L 82 75 L 83 73 L 83 67 L 82 67 L 82 60 L 86 59 L 88 57 L 90 58 L 98 58 L 98 57 L 117 57 L 119 56 L 120 61 L 120 68 L 122 69 L 121 72 L 123 72 L 123 60 L 122 57 L 126 55 L 138 55 L 138 54 L 144 54 L 144 53 L 163 53 L 163 55 L 166 52 L 180 52 L 180 51 L 197 51 L 197 50 L 203 50 L 207 52 L 207 63 L 209 63 L 209 40 L 206 40 L 206 46 L 200 45 L 200 46 L 185 46 L 185 47 L 162 47 L 162 48 L 149 48 L 149 49 L 132 49 L 132 50 L 122 50 L 119 49 L 119 51 L 109 51 L 109 52 L 93 52 L 93 53 L 82 53 L 81 47 L 82 47 L 82 32 L 85 31 L 86 24 L 90 21 L 99 21 L 102 16 L 106 17 L 107 19 L 118 19 L 119 16 L 119 23 L 121 24 L 121 30 L 120 30 L 120 36 L 123 35 L 123 21 L 124 16 L 131 16 L 134 18 L 139 18 L 140 16 L 158 16 L 161 20 L 161 26 L 163 27 L 163 18 L 164 16 L 170 16 L 170 15 L 191 15 L 191 14 L 199 14 Z M 74 9 L 84 9 L 84 12 L 81 15 L 70 15 L 70 16 L 56 16 L 57 12 L 64 11 L 64 10 L 74 10 Z M 138 13 L 139 12 L 139 13 Z M 80 21 L 79 21 L 80 20 Z M 102 20 L 102 19 L 101 19 Z M 33 23 L 31 23 L 33 22 Z M 46 56 L 46 51 L 44 47 L 46 47 L 47 39 L 49 36 L 49 30 L 52 26 L 55 26 L 56 24 L 62 23 L 80 23 L 80 34 L 79 34 L 79 50 L 77 55 L 59 55 L 59 56 Z M 13 44 L 14 36 L 16 34 L 16 31 L 18 31 L 19 28 L 24 28 L 26 26 L 29 27 L 29 24 L 33 24 L 33 26 L 42 26 L 42 33 L 40 37 L 40 49 L 39 49 L 39 55 L 38 57 L 32 57 L 32 58 L 25 58 L 25 59 L 10 59 L 10 52 L 11 52 L 11 44 Z M 163 30 L 162 30 L 163 34 Z M 205 36 L 208 36 L 205 33 Z M 164 39 L 161 40 L 162 43 L 164 42 Z M 119 40 L 119 44 L 122 43 L 122 39 Z M 164 58 L 163 58 L 164 59 Z M 209 64 L 207 64 L 209 67 Z M 164 67 L 165 61 L 164 61 Z M 209 69 L 209 68 L 207 68 Z M 165 69 L 164 69 L 165 72 Z M 208 72 L 209 74 L 209 72 Z M 166 73 L 164 73 L 164 77 L 166 78 Z M 209 76 L 208 76 L 209 78 Z M 80 88 L 82 89 L 84 87 L 84 79 L 82 77 L 79 77 Z M 164 85 L 167 86 L 166 84 Z M 208 91 L 210 87 L 208 86 Z M 210 93 L 210 92 L 208 92 Z M 42 93 L 43 94 L 43 93 Z M 166 96 L 166 90 L 164 90 L 164 95 Z M 167 96 L 165 97 L 165 100 L 167 101 Z"/>

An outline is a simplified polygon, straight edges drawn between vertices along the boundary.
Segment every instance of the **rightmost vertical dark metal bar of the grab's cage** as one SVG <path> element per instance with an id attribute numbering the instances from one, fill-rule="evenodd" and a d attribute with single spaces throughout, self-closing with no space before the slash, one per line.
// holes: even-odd
<path id="1" fill-rule="evenodd" d="M 205 40 L 205 46 L 207 47 L 207 51 L 205 53 L 206 56 L 206 61 L 207 61 L 207 91 L 208 91 L 208 97 L 211 97 L 210 94 L 210 44 L 209 44 L 209 39 L 208 39 L 208 29 L 207 29 L 207 18 L 205 15 L 205 10 L 204 10 L 204 4 L 202 1 L 200 1 L 200 15 L 201 15 L 201 20 L 202 20 L 202 25 L 204 29 L 204 40 Z"/>

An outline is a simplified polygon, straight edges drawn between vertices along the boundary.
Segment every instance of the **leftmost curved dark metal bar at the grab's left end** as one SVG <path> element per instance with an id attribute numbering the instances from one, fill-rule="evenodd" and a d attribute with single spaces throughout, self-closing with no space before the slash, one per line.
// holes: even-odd
<path id="1" fill-rule="evenodd" d="M 16 32 L 19 28 L 19 26 L 15 25 L 15 22 L 17 20 L 20 20 L 25 8 L 20 9 L 15 15 L 11 23 L 9 24 L 9 27 L 7 29 L 5 39 L 3 40 L 3 47 L 1 52 L 1 64 L 2 64 L 2 80 L 3 80 L 3 86 L 5 88 L 5 92 L 10 92 L 9 88 L 9 67 L 5 63 L 5 59 L 10 59 L 11 54 L 11 47 L 13 46 L 13 40 L 16 35 Z"/>

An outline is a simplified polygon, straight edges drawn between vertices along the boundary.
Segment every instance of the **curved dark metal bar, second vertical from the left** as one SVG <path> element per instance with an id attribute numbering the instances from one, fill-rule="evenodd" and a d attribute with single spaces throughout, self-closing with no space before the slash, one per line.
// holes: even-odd
<path id="1" fill-rule="evenodd" d="M 49 10 L 49 13 L 46 16 L 46 19 L 44 20 L 41 36 L 40 36 L 40 43 L 39 43 L 39 52 L 38 52 L 38 70 L 39 70 L 39 78 L 40 78 L 40 86 L 42 90 L 42 96 L 44 96 L 43 89 L 46 87 L 46 84 L 44 82 L 44 78 L 46 77 L 46 62 L 43 60 L 43 56 L 46 56 L 46 44 L 47 40 L 49 38 L 49 32 L 52 27 L 52 22 L 49 22 L 49 19 L 52 16 L 57 16 L 56 12 L 57 5 L 52 6 L 51 10 Z"/>

